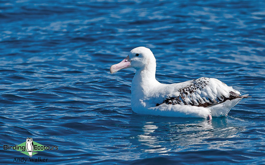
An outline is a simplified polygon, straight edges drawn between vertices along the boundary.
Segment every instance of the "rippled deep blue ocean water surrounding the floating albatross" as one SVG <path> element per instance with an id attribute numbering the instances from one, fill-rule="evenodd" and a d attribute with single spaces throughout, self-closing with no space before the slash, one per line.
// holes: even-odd
<path id="1" fill-rule="evenodd" d="M 265 163 L 264 1 L 4 0 L 0 21 L 1 146 L 58 146 L 33 156 L 46 164 Z M 162 83 L 213 77 L 252 98 L 212 122 L 138 115 L 134 69 L 109 73 L 138 46 Z"/>

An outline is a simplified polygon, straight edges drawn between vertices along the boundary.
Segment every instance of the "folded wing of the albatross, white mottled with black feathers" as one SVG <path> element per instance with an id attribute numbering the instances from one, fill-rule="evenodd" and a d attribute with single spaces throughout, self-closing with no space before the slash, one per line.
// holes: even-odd
<path id="1" fill-rule="evenodd" d="M 174 84 L 170 84 L 174 85 Z M 240 92 L 227 86 L 218 79 L 201 77 L 199 79 L 175 84 L 174 91 L 167 95 L 161 104 L 180 104 L 198 107 L 208 107 L 235 98 L 244 98 Z"/>

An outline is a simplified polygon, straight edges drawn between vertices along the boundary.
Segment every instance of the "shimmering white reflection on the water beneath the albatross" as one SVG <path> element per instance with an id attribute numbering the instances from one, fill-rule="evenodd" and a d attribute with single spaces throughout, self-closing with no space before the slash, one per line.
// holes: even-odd
<path id="1" fill-rule="evenodd" d="M 145 122 L 139 122 L 139 120 Z M 167 122 L 165 122 L 165 120 Z M 231 118 L 216 118 L 208 122 L 196 118 L 134 118 L 132 125 L 138 125 L 138 131 L 131 132 L 137 141 L 131 139 L 132 146 L 138 146 L 148 153 L 168 154 L 168 152 L 183 151 L 185 149 L 218 149 L 227 144 L 236 143 L 238 132 L 244 127 L 235 127 Z M 142 126 L 140 126 L 142 125 Z M 139 135 L 139 130 L 142 133 Z"/>

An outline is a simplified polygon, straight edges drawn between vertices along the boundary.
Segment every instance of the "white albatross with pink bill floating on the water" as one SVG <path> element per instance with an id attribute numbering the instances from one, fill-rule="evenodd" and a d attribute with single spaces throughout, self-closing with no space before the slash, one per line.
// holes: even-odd
<path id="1" fill-rule="evenodd" d="M 150 49 L 136 47 L 110 73 L 135 68 L 132 79 L 132 110 L 138 114 L 206 118 L 226 116 L 242 98 L 240 92 L 218 79 L 201 77 L 177 84 L 155 79 L 156 60 Z"/>

